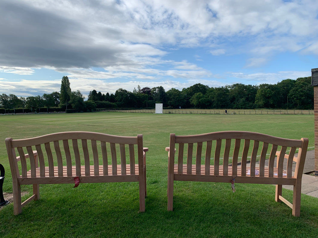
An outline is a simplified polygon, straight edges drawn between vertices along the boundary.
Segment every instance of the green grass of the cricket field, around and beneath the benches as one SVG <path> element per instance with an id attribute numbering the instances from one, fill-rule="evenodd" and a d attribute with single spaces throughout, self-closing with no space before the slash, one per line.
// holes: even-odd
<path id="1" fill-rule="evenodd" d="M 318 198 L 302 195 L 301 216 L 274 199 L 273 185 L 175 182 L 174 211 L 167 211 L 169 133 L 201 134 L 246 130 L 291 139 L 309 138 L 314 149 L 314 115 L 197 115 L 79 113 L 0 116 L 3 185 L 12 192 L 4 139 L 60 131 L 143 134 L 147 152 L 146 212 L 139 213 L 137 183 L 40 185 L 40 200 L 13 215 L 0 211 L 1 237 L 317 237 Z M 31 191 L 31 186 L 22 186 Z M 284 190 L 291 201 L 292 191 Z M 26 198 L 24 197 L 23 200 Z"/>

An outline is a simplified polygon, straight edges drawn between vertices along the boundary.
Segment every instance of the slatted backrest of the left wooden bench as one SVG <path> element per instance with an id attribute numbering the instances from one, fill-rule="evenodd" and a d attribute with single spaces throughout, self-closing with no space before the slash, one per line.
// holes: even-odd
<path id="1" fill-rule="evenodd" d="M 31 177 L 36 177 L 38 167 L 40 177 L 45 176 L 45 167 L 50 177 L 54 177 L 54 167 L 59 177 L 117 175 L 118 169 L 122 175 L 134 175 L 135 158 L 139 168 L 143 169 L 144 165 L 142 135 L 128 137 L 74 131 L 20 140 L 6 138 L 5 142 L 11 173 L 17 177 L 26 177 L 29 169 Z M 111 171 L 108 171 L 108 164 L 112 165 Z M 126 166 L 128 164 L 130 167 Z M 99 165 L 103 165 L 102 171 Z M 72 166 L 76 167 L 76 174 L 72 174 Z"/>

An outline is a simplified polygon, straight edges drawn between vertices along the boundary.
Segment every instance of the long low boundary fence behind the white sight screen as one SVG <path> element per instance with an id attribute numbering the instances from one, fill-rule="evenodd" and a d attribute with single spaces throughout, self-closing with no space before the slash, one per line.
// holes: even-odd
<path id="1" fill-rule="evenodd" d="M 156 110 L 116 110 L 116 109 L 97 109 L 100 112 L 127 112 L 127 113 L 155 113 Z M 214 114 L 225 115 L 224 110 L 172 110 L 164 109 L 163 114 Z M 314 115 L 314 110 L 227 110 L 227 115 Z"/>

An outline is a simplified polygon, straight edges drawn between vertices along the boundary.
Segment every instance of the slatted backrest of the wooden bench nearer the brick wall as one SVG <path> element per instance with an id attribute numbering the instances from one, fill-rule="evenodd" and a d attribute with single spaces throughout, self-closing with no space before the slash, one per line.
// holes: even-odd
<path id="1" fill-rule="evenodd" d="M 173 171 L 174 164 L 178 164 L 178 174 L 192 174 L 195 166 L 196 174 L 228 175 L 229 166 L 232 165 L 232 175 L 237 175 L 239 170 L 241 176 L 246 176 L 246 163 L 249 160 L 250 176 L 255 176 L 255 165 L 259 163 L 259 176 L 264 177 L 265 160 L 269 159 L 268 177 L 273 177 L 274 167 L 278 168 L 277 176 L 282 177 L 285 159 L 287 175 L 284 176 L 292 177 L 295 161 L 294 177 L 301 177 L 307 147 L 307 138 L 293 140 L 247 131 L 221 131 L 191 136 L 170 134 L 169 171 Z M 280 153 L 274 165 L 276 152 Z M 298 155 L 294 157 L 296 152 Z M 214 171 L 210 173 L 211 160 L 214 160 Z M 201 170 L 203 163 L 204 171 Z M 223 165 L 222 174 L 219 174 L 220 165 Z"/>

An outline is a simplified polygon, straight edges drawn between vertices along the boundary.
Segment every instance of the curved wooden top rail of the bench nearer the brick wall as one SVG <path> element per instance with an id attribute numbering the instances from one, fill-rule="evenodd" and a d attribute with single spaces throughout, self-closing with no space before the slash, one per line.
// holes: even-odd
<path id="1" fill-rule="evenodd" d="M 287 146 L 287 147 L 301 147 L 303 143 L 302 140 L 286 139 L 286 138 L 270 136 L 270 135 L 266 135 L 266 134 L 262 134 L 258 132 L 249 132 L 249 131 L 218 131 L 218 132 L 211 132 L 211 133 L 200 134 L 200 135 L 175 136 L 175 143 L 187 144 L 187 143 L 206 142 L 206 141 L 222 140 L 222 139 L 254 140 L 254 141 L 266 142 L 269 144 L 276 144 L 276 145 Z M 307 139 L 307 138 L 302 138 L 302 139 Z"/>

